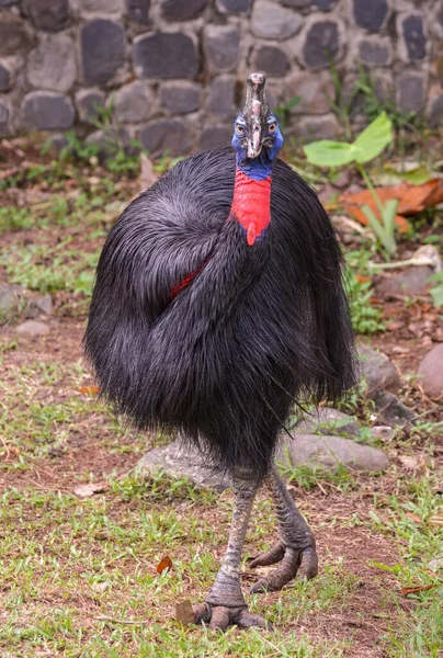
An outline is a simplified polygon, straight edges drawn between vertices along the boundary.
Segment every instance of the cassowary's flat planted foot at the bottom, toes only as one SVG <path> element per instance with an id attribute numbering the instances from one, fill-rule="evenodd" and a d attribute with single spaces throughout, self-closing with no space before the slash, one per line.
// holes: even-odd
<path id="1" fill-rule="evenodd" d="M 193 606 L 194 622 L 196 624 L 208 624 L 211 631 L 225 632 L 228 626 L 250 628 L 259 626 L 266 631 L 273 631 L 272 625 L 260 614 L 249 612 L 246 605 L 228 608 L 226 605 L 214 605 L 212 603 L 200 603 Z"/>

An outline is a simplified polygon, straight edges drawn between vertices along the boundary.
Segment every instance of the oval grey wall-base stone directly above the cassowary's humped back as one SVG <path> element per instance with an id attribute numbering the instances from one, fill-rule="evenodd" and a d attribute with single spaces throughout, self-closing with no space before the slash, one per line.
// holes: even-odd
<path id="1" fill-rule="evenodd" d="M 151 156 L 166 152 L 180 156 L 191 146 L 186 124 L 178 118 L 160 118 L 150 122 L 140 129 L 139 140 Z"/>

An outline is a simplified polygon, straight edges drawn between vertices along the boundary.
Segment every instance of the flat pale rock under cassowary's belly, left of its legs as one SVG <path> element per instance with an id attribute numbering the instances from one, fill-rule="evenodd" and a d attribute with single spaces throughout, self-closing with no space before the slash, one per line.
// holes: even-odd
<path id="1" fill-rule="evenodd" d="M 188 477 L 200 487 L 223 491 L 230 486 L 226 476 L 215 474 L 205 467 L 200 451 L 183 445 L 181 441 L 172 441 L 150 450 L 139 462 L 141 473 L 152 473 L 161 469 L 167 475 L 182 478 Z"/>

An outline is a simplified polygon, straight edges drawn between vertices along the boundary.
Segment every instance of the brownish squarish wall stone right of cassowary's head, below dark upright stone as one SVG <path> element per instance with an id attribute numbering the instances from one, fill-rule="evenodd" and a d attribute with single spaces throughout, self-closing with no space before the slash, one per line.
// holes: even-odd
<path id="1" fill-rule="evenodd" d="M 292 115 L 329 112 L 328 98 L 331 99 L 334 95 L 334 87 L 329 71 L 318 71 L 315 76 L 309 71 L 296 71 L 286 78 L 284 87 L 285 102 L 297 95 L 300 97 L 300 102 L 289 110 Z"/>

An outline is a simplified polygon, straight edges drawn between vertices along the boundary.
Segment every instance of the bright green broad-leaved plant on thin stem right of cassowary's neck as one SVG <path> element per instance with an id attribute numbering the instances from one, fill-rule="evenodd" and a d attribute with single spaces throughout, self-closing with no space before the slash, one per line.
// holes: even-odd
<path id="1" fill-rule="evenodd" d="M 366 204 L 362 206 L 362 211 L 388 254 L 393 254 L 397 250 L 395 217 L 398 201 L 390 198 L 383 204 L 363 164 L 379 156 L 391 141 L 393 124 L 386 112 L 383 112 L 352 143 L 320 139 L 304 147 L 308 162 L 317 167 L 342 167 L 351 162 L 356 164 L 380 218 L 378 219 L 374 211 Z"/>

